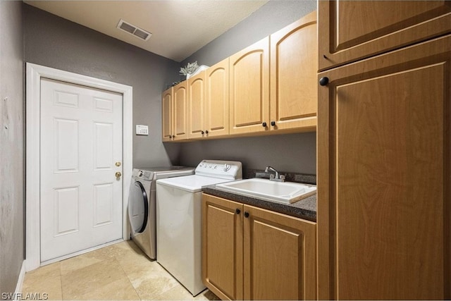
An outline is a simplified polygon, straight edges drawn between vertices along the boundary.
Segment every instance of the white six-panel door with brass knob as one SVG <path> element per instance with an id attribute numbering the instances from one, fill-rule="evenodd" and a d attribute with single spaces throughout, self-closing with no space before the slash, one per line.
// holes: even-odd
<path id="1" fill-rule="evenodd" d="M 122 136 L 121 94 L 42 78 L 41 262 L 122 238 Z"/>

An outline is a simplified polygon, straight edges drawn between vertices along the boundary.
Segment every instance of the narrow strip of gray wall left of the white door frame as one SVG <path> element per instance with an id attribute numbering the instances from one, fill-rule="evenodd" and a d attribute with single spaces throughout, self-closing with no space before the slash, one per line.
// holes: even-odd
<path id="1" fill-rule="evenodd" d="M 0 293 L 24 259 L 22 2 L 0 1 Z"/>

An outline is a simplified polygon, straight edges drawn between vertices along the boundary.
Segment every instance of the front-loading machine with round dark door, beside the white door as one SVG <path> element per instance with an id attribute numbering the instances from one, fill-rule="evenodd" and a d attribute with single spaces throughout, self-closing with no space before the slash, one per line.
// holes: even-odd
<path id="1" fill-rule="evenodd" d="M 185 166 L 134 168 L 128 196 L 130 238 L 150 258 L 156 259 L 155 181 L 187 176 L 194 168 Z"/>

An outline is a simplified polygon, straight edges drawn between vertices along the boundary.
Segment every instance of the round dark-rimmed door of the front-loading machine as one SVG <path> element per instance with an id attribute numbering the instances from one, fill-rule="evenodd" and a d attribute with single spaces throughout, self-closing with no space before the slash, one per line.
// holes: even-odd
<path id="1" fill-rule="evenodd" d="M 130 186 L 128 200 L 128 218 L 133 233 L 142 233 L 147 226 L 149 215 L 149 199 L 141 182 L 135 181 Z"/>

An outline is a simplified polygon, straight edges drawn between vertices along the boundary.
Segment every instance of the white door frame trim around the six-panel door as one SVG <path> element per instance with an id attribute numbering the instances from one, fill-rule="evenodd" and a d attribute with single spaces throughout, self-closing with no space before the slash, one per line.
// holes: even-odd
<path id="1" fill-rule="evenodd" d="M 127 211 L 128 188 L 132 177 L 132 87 L 92 78 L 68 71 L 27 63 L 26 67 L 26 118 L 25 118 L 25 269 L 31 271 L 41 265 L 40 235 L 40 94 L 41 78 L 61 80 L 123 95 L 123 234 L 128 239 Z"/>

